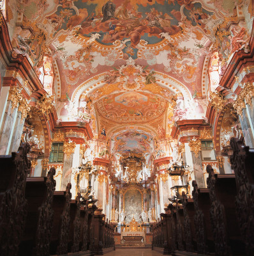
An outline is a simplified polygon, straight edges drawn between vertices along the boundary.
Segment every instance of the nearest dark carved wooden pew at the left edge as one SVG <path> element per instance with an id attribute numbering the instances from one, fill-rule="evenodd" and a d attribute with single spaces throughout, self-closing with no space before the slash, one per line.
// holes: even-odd
<path id="1" fill-rule="evenodd" d="M 24 232 L 26 177 L 31 169 L 28 143 L 11 156 L 0 156 L 0 255 L 17 255 Z"/>

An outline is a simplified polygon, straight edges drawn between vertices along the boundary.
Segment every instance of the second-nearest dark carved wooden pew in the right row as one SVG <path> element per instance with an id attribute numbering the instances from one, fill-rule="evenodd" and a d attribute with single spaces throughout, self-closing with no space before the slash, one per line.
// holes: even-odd
<path id="1" fill-rule="evenodd" d="M 211 165 L 207 165 L 207 187 L 211 200 L 211 225 L 213 228 L 215 252 L 219 255 L 244 252 L 236 217 L 236 184 L 234 174 L 215 174 Z"/>

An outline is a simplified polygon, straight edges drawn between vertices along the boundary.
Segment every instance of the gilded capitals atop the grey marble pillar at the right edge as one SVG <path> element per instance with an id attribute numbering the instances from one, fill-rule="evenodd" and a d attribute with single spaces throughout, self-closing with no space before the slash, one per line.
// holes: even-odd
<path id="1" fill-rule="evenodd" d="M 253 83 L 244 83 L 244 87 L 237 95 L 233 107 L 237 111 L 237 114 L 243 116 L 243 108 L 246 108 L 246 104 L 252 106 L 251 99 L 254 96 L 254 86 Z"/>

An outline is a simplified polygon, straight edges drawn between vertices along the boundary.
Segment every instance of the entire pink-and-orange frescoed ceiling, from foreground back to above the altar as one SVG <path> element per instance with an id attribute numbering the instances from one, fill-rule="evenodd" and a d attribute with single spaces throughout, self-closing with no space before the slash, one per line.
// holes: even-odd
<path id="1" fill-rule="evenodd" d="M 248 52 L 250 3 L 9 0 L 6 13 L 11 44 L 38 76 L 45 56 L 54 61 L 59 120 L 86 101 L 94 135 L 126 153 L 152 147 L 178 120 L 205 117 L 234 52 Z"/>

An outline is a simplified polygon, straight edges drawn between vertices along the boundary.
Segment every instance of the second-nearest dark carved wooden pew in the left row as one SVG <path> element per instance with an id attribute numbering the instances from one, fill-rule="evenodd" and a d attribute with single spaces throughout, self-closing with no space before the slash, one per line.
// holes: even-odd
<path id="1" fill-rule="evenodd" d="M 56 188 L 55 168 L 47 177 L 26 179 L 27 218 L 19 255 L 49 254 L 50 234 L 53 220 L 53 194 Z"/>

